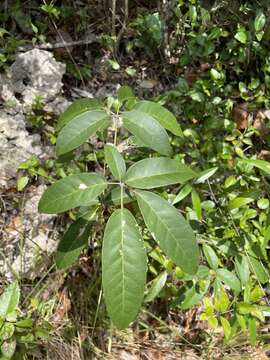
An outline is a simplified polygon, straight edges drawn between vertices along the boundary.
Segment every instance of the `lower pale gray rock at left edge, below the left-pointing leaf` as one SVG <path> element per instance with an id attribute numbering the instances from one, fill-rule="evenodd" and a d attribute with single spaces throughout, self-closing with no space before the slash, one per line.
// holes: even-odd
<path id="1" fill-rule="evenodd" d="M 0 276 L 34 279 L 49 264 L 57 246 L 53 216 L 38 213 L 38 202 L 45 190 L 40 185 L 25 194 L 25 204 L 14 209 L 3 227 L 0 248 Z"/>

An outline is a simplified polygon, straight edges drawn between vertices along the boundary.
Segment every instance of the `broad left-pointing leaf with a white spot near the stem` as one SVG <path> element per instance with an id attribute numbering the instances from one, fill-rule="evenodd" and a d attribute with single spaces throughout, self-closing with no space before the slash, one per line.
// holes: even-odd
<path id="1" fill-rule="evenodd" d="M 78 206 L 87 206 L 106 187 L 105 179 L 94 173 L 66 176 L 44 192 L 39 201 L 39 212 L 57 214 Z"/>

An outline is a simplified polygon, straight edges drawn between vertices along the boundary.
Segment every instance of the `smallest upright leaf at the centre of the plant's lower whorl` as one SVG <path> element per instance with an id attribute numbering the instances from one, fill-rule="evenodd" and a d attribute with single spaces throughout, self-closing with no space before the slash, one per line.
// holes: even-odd
<path id="1" fill-rule="evenodd" d="M 107 144 L 104 147 L 105 160 L 113 176 L 121 181 L 126 173 L 126 163 L 114 145 Z"/>

